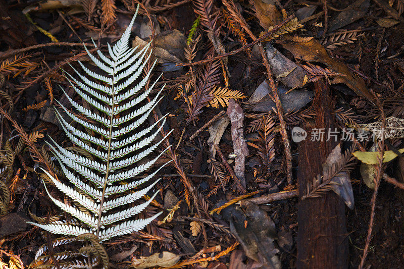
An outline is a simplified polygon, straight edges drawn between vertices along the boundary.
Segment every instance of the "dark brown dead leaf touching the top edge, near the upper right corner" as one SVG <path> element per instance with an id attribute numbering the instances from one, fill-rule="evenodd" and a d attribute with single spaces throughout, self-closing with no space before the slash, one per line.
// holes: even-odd
<path id="1" fill-rule="evenodd" d="M 341 11 L 338 16 L 330 23 L 329 31 L 335 31 L 345 25 L 355 22 L 366 15 L 370 6 L 369 0 L 357 0 L 344 11 Z"/>

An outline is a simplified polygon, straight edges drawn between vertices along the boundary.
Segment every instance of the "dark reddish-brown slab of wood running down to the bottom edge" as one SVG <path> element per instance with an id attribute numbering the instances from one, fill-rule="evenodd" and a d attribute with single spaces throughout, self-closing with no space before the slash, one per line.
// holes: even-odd
<path id="1" fill-rule="evenodd" d="M 324 80 L 315 83 L 316 96 L 313 105 L 317 112 L 316 122 L 303 126 L 308 133 L 314 128 L 336 127 L 332 114 L 333 102 L 328 84 Z M 299 209 L 297 222 L 297 268 L 347 268 L 348 241 L 345 227 L 345 205 L 334 192 L 320 198 L 301 200 L 307 184 L 322 172 L 322 164 L 337 142 L 303 140 L 299 143 Z"/>

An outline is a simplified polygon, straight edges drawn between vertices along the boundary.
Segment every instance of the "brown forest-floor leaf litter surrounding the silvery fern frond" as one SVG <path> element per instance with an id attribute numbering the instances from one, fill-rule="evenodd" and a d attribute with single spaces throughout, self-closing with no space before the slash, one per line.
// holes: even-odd
<path id="1" fill-rule="evenodd" d="M 404 1 L 0 6 L 0 268 L 402 266 Z M 49 178 L 68 182 L 47 142 L 94 160 L 55 115 L 95 136 L 70 100 L 103 113 L 64 73 L 95 71 L 85 47 L 111 55 L 137 9 L 129 46 L 145 48 L 146 89 L 162 76 L 153 98 L 165 86 L 142 125 L 163 142 L 136 165 L 162 155 L 135 179 L 166 166 L 131 218 L 162 214 L 103 243 L 32 226 L 85 227 L 49 199 L 90 214 Z"/>

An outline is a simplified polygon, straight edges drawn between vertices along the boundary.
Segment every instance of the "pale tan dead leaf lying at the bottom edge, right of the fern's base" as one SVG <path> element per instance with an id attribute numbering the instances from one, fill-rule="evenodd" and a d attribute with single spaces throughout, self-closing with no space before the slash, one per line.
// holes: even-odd
<path id="1" fill-rule="evenodd" d="M 139 257 L 138 259 L 132 259 L 132 266 L 136 269 L 150 268 L 154 266 L 170 267 L 176 264 L 180 260 L 181 256 L 163 251 L 161 253 L 155 253 L 148 257 Z"/>

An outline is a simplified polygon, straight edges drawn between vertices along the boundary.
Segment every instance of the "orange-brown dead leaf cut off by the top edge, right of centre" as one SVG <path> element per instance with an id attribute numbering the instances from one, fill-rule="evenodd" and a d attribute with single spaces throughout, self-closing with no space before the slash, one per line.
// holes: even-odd
<path id="1" fill-rule="evenodd" d="M 256 14 L 260 20 L 260 25 L 268 30 L 269 27 L 275 26 L 282 21 L 282 16 L 276 9 L 275 1 L 266 0 L 254 0 L 254 6 L 256 7 Z"/>

